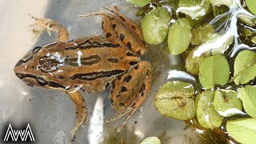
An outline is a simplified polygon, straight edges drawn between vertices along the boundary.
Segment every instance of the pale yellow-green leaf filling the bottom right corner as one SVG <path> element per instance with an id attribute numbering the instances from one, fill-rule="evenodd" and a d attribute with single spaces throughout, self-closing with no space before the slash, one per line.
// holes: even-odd
<path id="1" fill-rule="evenodd" d="M 226 122 L 226 131 L 239 143 L 255 144 L 256 118 L 229 120 Z"/>

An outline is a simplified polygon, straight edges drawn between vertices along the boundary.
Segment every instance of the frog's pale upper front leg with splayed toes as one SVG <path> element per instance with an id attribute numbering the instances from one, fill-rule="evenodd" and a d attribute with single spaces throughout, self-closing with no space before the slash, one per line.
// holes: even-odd
<path id="1" fill-rule="evenodd" d="M 30 27 L 32 27 L 32 32 L 35 34 L 35 36 L 41 34 L 43 30 L 47 30 L 49 35 L 51 35 L 50 31 L 54 31 L 58 33 L 58 39 L 56 40 L 57 42 L 68 41 L 68 31 L 66 30 L 65 26 L 62 26 L 62 24 L 49 18 L 36 18 L 31 14 L 30 17 L 37 21 L 36 23 L 30 25 Z"/>

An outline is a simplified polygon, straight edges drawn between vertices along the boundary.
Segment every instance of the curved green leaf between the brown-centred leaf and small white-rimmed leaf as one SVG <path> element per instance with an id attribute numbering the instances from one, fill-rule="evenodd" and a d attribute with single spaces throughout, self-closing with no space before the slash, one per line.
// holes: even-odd
<path id="1" fill-rule="evenodd" d="M 209 129 L 219 127 L 222 124 L 223 118 L 214 109 L 214 90 L 204 90 L 199 93 L 196 98 L 197 118 L 201 126 Z"/>

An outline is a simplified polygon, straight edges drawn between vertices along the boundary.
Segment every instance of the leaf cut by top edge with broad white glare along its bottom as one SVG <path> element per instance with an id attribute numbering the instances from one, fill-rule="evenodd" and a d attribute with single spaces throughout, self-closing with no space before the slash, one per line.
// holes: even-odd
<path id="1" fill-rule="evenodd" d="M 206 15 L 208 10 L 210 10 L 210 2 L 208 0 L 180 0 L 177 12 L 196 19 Z"/>

